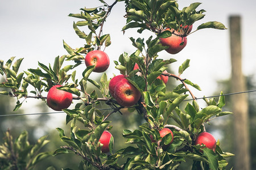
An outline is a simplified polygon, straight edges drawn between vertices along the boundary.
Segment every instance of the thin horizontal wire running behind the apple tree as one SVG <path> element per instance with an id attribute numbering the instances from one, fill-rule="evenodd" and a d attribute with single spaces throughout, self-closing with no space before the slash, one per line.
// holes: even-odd
<path id="1" fill-rule="evenodd" d="M 243 91 L 243 92 L 234 92 L 234 93 L 230 93 L 230 94 L 223 94 L 223 95 L 215 95 L 215 96 L 208 96 L 208 97 L 199 97 L 196 98 L 196 100 L 199 99 L 207 99 L 207 98 L 212 98 L 212 97 L 220 97 L 220 96 L 230 96 L 230 95 L 238 95 L 238 94 L 245 94 L 245 93 L 250 93 L 250 92 L 256 92 L 256 90 L 249 90 L 249 91 Z M 183 101 L 191 101 L 194 99 L 187 99 L 187 100 L 183 100 Z M 133 108 L 133 107 L 130 107 Z M 113 108 L 108 108 L 108 109 L 98 109 L 99 111 L 109 111 L 109 110 L 113 110 Z M 63 111 L 60 112 L 47 112 L 47 113 L 20 113 L 20 114 L 0 114 L 0 117 L 10 117 L 10 116 L 30 116 L 30 115 L 42 115 L 42 114 L 58 114 L 58 113 L 65 113 Z"/>

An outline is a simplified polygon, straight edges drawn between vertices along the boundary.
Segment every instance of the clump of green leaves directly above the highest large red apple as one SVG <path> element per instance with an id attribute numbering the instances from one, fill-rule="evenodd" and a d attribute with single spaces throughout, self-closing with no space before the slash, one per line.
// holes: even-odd
<path id="1" fill-rule="evenodd" d="M 187 36 L 188 29 L 185 25 L 192 25 L 204 18 L 205 10 L 197 11 L 201 3 L 191 3 L 188 7 L 179 10 L 175 1 L 146 1 L 130 0 L 127 1 L 126 7 L 126 25 L 123 31 L 129 28 L 138 28 L 142 33 L 148 29 L 158 34 L 158 37 L 166 38 L 171 36 L 171 32 L 163 32 L 163 29 L 174 28 L 181 35 Z M 207 22 L 197 27 L 197 30 L 203 28 L 226 29 L 225 25 L 220 22 Z"/>

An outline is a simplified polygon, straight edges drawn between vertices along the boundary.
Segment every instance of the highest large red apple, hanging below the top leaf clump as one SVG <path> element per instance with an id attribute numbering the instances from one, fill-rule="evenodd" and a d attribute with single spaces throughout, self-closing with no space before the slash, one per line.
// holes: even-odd
<path id="1" fill-rule="evenodd" d="M 177 33 L 177 31 L 175 31 L 174 33 L 179 34 Z M 163 46 L 169 46 L 169 48 L 166 49 L 166 51 L 170 54 L 179 53 L 187 45 L 187 37 L 177 36 L 174 35 L 174 33 L 170 37 L 159 38 L 160 44 L 162 44 Z M 181 43 L 183 44 L 180 45 Z"/>

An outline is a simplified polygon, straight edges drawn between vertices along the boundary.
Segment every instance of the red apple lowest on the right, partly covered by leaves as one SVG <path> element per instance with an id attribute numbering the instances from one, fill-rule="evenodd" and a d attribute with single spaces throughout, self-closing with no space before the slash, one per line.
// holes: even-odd
<path id="1" fill-rule="evenodd" d="M 195 145 L 202 145 L 204 144 L 205 147 L 208 147 L 209 149 L 215 151 L 216 149 L 216 139 L 213 137 L 212 134 L 204 131 L 202 133 L 200 133 L 195 141 Z M 200 150 L 201 151 L 201 150 Z"/>

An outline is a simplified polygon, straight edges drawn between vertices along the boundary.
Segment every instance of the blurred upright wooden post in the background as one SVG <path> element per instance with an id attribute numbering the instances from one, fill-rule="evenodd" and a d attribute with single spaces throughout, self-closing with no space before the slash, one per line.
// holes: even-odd
<path id="1" fill-rule="evenodd" d="M 246 81 L 242 74 L 242 50 L 241 50 L 241 18 L 230 16 L 230 50 L 232 62 L 231 91 L 246 91 Z M 249 122 L 247 95 L 233 95 L 232 108 L 234 113 L 234 169 L 250 169 L 249 151 Z"/>

